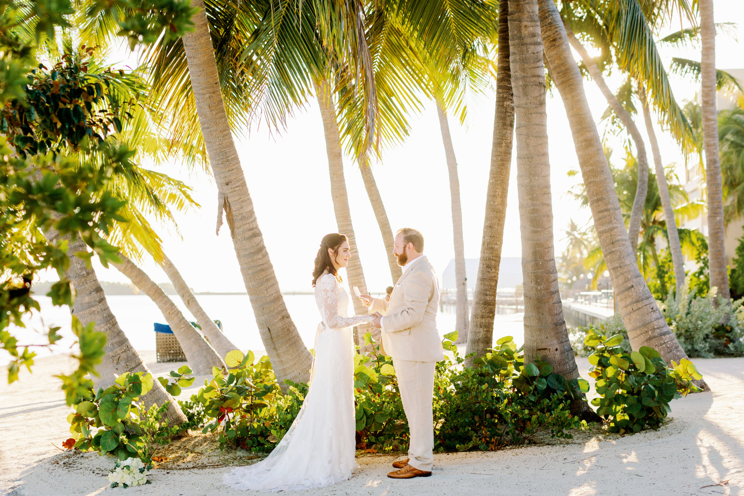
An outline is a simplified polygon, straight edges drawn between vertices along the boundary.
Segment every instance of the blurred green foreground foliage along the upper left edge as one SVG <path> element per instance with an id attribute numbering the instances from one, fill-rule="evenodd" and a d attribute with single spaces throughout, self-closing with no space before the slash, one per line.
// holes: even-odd
<path id="1" fill-rule="evenodd" d="M 88 14 L 111 14 L 132 47 L 182 36 L 196 12 L 188 0 L 94 0 L 87 7 Z M 121 118 L 104 105 L 112 101 L 106 83 L 115 74 L 94 80 L 83 57 L 71 54 L 51 71 L 36 59 L 36 48 L 52 47 L 75 14 L 69 0 L 0 0 L 0 350 L 10 354 L 9 382 L 18 379 L 20 367 L 31 370 L 36 355 L 8 330 L 11 323 L 24 326 L 23 316 L 39 309 L 30 294 L 34 275 L 57 271 L 60 281 L 48 296 L 54 305 L 72 306 L 74 289 L 65 277 L 69 239 L 80 236 L 92 248 L 76 254 L 86 264 L 96 254 L 107 266 L 118 261 L 118 248 L 101 234 L 126 221 L 118 215 L 126 201 L 104 191 L 134 155 L 103 139 L 109 127 L 121 131 Z M 59 376 L 68 403 L 89 386 L 83 376 L 94 373 L 105 343 L 92 327 L 83 329 L 76 319 L 73 326 L 80 369 Z M 58 329 L 48 329 L 48 346 L 59 340 Z"/>

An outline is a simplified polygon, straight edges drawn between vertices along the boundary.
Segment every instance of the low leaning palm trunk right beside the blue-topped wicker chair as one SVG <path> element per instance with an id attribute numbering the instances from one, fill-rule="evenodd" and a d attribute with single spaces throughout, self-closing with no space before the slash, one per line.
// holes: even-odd
<path id="1" fill-rule="evenodd" d="M 173 303 L 173 300 L 160 289 L 160 286 L 155 284 L 141 268 L 132 263 L 132 260 L 126 258 L 124 254 L 120 253 L 118 257 L 121 258 L 121 263 L 115 263 L 115 267 L 126 277 L 129 277 L 132 284 L 141 289 L 144 294 L 147 294 L 158 306 L 158 309 L 163 312 L 170 330 L 173 331 L 173 335 L 176 335 L 176 339 L 179 340 L 179 344 L 184 350 L 184 355 L 186 355 L 193 373 L 196 376 L 205 376 L 212 373 L 212 367 L 225 367 L 225 362 L 222 361 L 222 358 L 219 358 L 214 348 L 186 320 L 176 303 Z"/>

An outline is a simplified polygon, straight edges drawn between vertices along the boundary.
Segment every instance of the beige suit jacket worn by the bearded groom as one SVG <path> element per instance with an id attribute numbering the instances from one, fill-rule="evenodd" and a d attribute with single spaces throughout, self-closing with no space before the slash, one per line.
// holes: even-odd
<path id="1" fill-rule="evenodd" d="M 396 283 L 390 301 L 374 298 L 370 312 L 385 316 L 382 347 L 398 360 L 440 361 L 444 359 L 437 331 L 439 281 L 426 257 L 414 260 Z"/>

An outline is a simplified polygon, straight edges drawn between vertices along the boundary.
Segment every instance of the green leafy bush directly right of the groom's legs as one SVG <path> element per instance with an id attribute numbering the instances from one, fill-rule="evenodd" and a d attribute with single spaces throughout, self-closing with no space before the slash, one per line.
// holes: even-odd
<path id="1" fill-rule="evenodd" d="M 465 358 L 446 335 L 446 357 L 437 362 L 434 379 L 434 445 L 440 450 L 496 450 L 507 445 L 533 441 L 536 435 L 571 438 L 569 429 L 586 426 L 571 416 L 568 405 L 580 391 L 588 390 L 583 379 L 569 384 L 542 360 L 524 364 L 511 336 L 501 338 L 496 347 L 475 367 L 462 367 Z"/>

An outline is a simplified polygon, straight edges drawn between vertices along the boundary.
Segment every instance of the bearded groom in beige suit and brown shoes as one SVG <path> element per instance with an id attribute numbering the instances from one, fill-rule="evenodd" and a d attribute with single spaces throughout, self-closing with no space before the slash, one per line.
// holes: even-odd
<path id="1" fill-rule="evenodd" d="M 376 314 L 373 326 L 382 329 L 382 348 L 393 358 L 400 399 L 411 431 L 408 459 L 393 463 L 399 470 L 390 472 L 388 477 L 429 477 L 434 462 L 434 365 L 444 359 L 437 332 L 439 282 L 423 254 L 423 236 L 419 231 L 400 229 L 395 236 L 393 254 L 403 267 L 403 274 L 390 301 L 362 294 L 370 312 Z"/>

